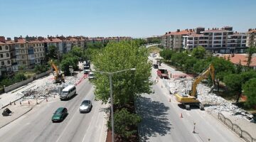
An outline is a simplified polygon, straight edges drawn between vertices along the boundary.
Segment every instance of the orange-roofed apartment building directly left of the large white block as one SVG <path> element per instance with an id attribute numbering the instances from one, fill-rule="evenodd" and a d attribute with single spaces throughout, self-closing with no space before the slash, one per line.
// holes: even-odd
<path id="1" fill-rule="evenodd" d="M 193 33 L 193 30 L 186 29 L 183 31 L 180 31 L 180 29 L 177 29 L 175 32 L 166 32 L 165 35 L 161 38 L 161 45 L 164 45 L 165 48 L 169 48 L 171 50 L 181 50 L 183 48 L 183 40 L 184 36 L 189 35 Z"/>

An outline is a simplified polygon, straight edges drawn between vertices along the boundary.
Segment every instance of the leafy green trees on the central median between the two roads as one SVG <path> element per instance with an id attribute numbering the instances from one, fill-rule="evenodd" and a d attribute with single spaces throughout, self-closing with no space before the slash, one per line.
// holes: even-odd
<path id="1" fill-rule="evenodd" d="M 143 40 L 108 43 L 105 48 L 92 55 L 92 63 L 97 71 L 117 72 L 136 68 L 136 71 L 128 70 L 112 75 L 114 132 L 122 141 L 127 141 L 137 133 L 134 128 L 141 121 L 141 117 L 134 111 L 134 99 L 140 94 L 151 92 L 151 65 L 147 61 L 149 53 L 142 44 Z M 109 75 L 96 73 L 95 76 L 95 97 L 107 103 L 110 98 Z M 111 129 L 110 121 L 108 127 Z"/>

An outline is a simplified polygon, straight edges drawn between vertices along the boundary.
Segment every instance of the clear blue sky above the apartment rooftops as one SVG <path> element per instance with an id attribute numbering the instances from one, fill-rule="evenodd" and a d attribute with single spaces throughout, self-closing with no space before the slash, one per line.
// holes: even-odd
<path id="1" fill-rule="evenodd" d="M 0 35 L 146 37 L 177 28 L 256 28 L 255 0 L 0 0 Z"/>

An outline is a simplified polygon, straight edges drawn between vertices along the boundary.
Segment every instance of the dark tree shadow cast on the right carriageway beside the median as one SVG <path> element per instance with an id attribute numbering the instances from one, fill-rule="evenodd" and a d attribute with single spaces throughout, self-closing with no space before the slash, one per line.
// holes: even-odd
<path id="1" fill-rule="evenodd" d="M 136 106 L 138 114 L 142 116 L 142 123 L 139 124 L 140 141 L 146 141 L 151 136 L 164 136 L 169 133 L 171 124 L 166 113 L 169 107 L 146 97 L 139 97 Z"/>

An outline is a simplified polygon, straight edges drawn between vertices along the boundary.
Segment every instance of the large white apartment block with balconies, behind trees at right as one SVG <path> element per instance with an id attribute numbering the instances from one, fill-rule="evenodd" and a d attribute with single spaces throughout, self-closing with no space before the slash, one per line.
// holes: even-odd
<path id="1" fill-rule="evenodd" d="M 183 48 L 193 50 L 201 45 L 212 53 L 245 53 L 246 34 L 233 31 L 233 27 L 213 28 L 205 31 L 198 27 L 183 36 Z"/>

